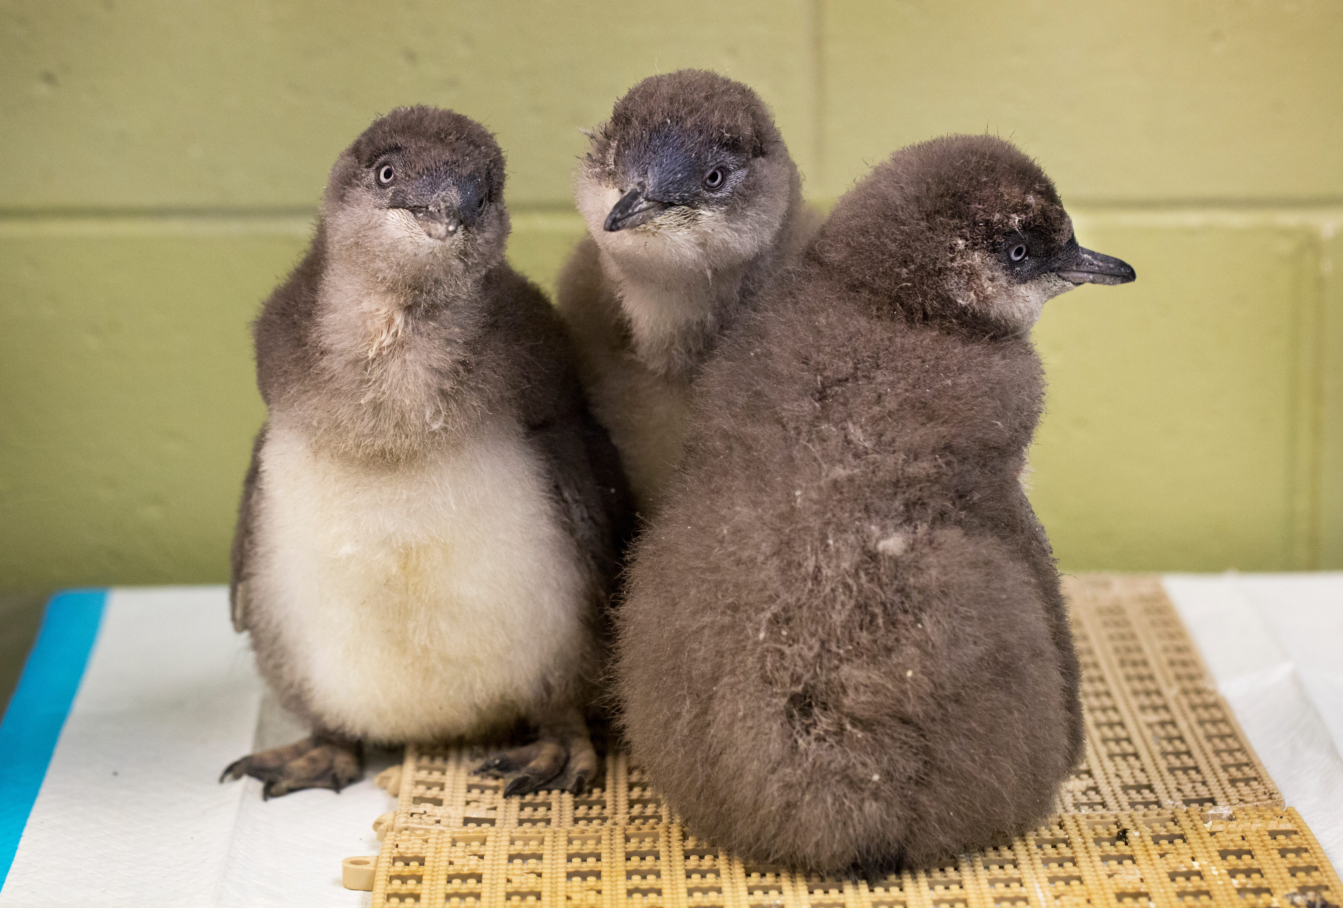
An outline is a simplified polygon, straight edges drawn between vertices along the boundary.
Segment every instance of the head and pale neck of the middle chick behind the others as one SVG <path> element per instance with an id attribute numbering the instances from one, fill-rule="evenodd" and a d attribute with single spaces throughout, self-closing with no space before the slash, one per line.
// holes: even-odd
<path id="1" fill-rule="evenodd" d="M 802 181 L 751 89 L 680 70 L 616 102 L 592 133 L 575 196 L 635 355 L 684 376 L 774 270 Z"/>

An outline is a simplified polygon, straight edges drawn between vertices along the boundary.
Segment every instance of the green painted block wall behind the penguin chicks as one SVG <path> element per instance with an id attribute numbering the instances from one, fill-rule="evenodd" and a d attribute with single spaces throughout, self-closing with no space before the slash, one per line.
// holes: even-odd
<path id="1" fill-rule="evenodd" d="M 0 591 L 224 579 L 247 321 L 376 113 L 497 130 L 549 287 L 577 129 L 681 66 L 753 85 L 814 199 L 987 129 L 1136 266 L 1037 329 L 1065 567 L 1343 567 L 1338 0 L 0 0 Z"/>

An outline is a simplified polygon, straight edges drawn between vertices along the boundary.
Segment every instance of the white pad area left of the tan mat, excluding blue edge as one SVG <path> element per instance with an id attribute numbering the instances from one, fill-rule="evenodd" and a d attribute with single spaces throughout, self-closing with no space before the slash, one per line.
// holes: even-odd
<path id="1" fill-rule="evenodd" d="M 368 905 L 340 862 L 377 853 L 372 774 L 270 802 L 216 782 L 262 690 L 222 587 L 113 591 L 0 905 Z"/>

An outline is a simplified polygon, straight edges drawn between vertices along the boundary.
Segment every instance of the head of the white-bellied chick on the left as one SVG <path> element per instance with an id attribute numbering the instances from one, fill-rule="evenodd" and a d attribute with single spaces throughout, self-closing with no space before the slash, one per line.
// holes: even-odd
<path id="1" fill-rule="evenodd" d="M 469 282 L 504 259 L 504 153 L 469 117 L 398 107 L 336 161 L 322 220 L 340 261 L 387 286 Z"/>

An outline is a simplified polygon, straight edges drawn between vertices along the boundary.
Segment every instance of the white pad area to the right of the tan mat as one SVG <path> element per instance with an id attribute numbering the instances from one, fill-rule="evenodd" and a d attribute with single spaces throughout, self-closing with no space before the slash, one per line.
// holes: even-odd
<path id="1" fill-rule="evenodd" d="M 1284 801 L 1343 868 L 1343 574 L 1164 583 Z"/>

